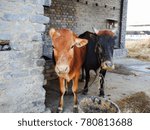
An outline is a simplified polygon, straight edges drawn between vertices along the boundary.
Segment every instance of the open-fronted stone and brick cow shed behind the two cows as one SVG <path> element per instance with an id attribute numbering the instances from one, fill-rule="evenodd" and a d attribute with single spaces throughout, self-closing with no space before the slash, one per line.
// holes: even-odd
<path id="1" fill-rule="evenodd" d="M 43 86 L 57 77 L 51 27 L 77 34 L 117 27 L 114 56 L 122 57 L 126 15 L 127 0 L 1 0 L 0 112 L 44 112 Z"/>

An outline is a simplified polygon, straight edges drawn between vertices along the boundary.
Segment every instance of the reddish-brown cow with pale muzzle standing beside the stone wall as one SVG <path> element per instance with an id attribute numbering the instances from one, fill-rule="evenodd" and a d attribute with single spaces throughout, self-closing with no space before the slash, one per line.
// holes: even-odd
<path id="1" fill-rule="evenodd" d="M 88 43 L 86 39 L 78 38 L 69 29 L 50 29 L 49 35 L 52 39 L 54 51 L 54 59 L 56 62 L 55 71 L 59 76 L 60 83 L 60 100 L 58 112 L 63 111 L 63 97 L 65 94 L 65 80 L 69 82 L 73 80 L 72 91 L 74 94 L 74 112 L 78 112 L 78 79 L 80 69 L 84 62 L 86 47 Z"/>

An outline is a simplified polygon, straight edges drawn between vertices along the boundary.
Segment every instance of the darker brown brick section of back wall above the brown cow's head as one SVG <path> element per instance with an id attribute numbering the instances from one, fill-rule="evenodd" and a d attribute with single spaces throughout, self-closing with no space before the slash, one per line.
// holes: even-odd
<path id="1" fill-rule="evenodd" d="M 45 15 L 51 18 L 50 27 L 73 30 L 76 25 L 75 2 L 74 0 L 52 0 L 52 5 L 45 7 Z"/>

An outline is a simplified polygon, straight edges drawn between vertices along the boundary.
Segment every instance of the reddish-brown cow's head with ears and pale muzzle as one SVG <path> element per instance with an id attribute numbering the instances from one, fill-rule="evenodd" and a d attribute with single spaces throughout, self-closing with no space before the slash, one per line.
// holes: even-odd
<path id="1" fill-rule="evenodd" d="M 52 39 L 52 46 L 55 58 L 55 71 L 58 76 L 63 76 L 70 72 L 73 64 L 74 48 L 82 47 L 88 43 L 86 39 L 78 38 L 68 29 L 50 29 L 49 35 Z"/>

